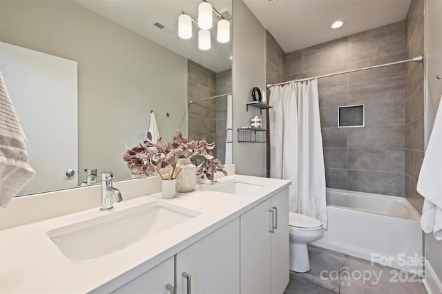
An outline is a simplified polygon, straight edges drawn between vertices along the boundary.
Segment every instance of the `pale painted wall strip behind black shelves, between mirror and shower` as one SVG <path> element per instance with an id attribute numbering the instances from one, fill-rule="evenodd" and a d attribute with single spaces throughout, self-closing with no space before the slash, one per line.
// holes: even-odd
<path id="1" fill-rule="evenodd" d="M 242 0 L 233 0 L 233 162 L 236 173 L 265 176 L 265 143 L 238 143 L 238 127 L 250 126 L 259 109 L 246 103 L 253 101 L 251 90 L 265 92 L 265 28 Z M 265 114 L 262 113 L 265 123 Z"/>

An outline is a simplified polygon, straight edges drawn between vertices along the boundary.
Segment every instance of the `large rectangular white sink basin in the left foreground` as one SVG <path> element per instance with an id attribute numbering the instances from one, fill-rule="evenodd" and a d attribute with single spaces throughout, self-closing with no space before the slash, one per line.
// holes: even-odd
<path id="1" fill-rule="evenodd" d="M 151 202 L 47 232 L 73 263 L 92 262 L 165 231 L 200 213 L 166 202 Z"/>

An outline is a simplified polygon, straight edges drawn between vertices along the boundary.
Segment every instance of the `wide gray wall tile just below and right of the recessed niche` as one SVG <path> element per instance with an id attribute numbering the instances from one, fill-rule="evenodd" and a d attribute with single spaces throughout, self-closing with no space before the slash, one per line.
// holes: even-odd
<path id="1" fill-rule="evenodd" d="M 403 149 L 403 125 L 352 127 L 347 130 L 347 147 L 354 149 Z"/>

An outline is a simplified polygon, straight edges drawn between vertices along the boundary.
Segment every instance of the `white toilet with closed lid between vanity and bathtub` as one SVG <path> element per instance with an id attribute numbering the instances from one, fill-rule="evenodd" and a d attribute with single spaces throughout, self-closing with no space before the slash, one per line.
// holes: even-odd
<path id="1" fill-rule="evenodd" d="M 289 213 L 290 271 L 310 270 L 307 242 L 319 240 L 324 233 L 323 223 L 303 214 Z"/>

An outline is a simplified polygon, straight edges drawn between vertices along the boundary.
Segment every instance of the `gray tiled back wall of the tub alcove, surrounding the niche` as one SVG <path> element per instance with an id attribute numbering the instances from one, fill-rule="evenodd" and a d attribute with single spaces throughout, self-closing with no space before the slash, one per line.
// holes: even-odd
<path id="1" fill-rule="evenodd" d="M 403 60 L 407 28 L 398 21 L 288 52 L 280 74 L 273 42 L 267 34 L 267 83 Z M 318 92 L 327 187 L 405 196 L 405 134 L 419 132 L 405 127 L 405 65 L 320 78 Z M 338 106 L 356 104 L 365 105 L 365 127 L 338 128 Z"/>

